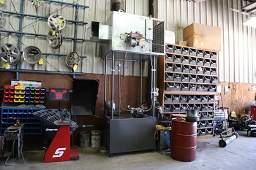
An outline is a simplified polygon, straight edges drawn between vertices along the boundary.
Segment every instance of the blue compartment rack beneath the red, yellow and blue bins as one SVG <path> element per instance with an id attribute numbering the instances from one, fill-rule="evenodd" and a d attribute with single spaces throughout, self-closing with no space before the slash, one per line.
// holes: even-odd
<path id="1" fill-rule="evenodd" d="M 42 108 L 21 108 L 21 107 L 2 107 L 1 108 L 1 126 L 0 135 L 4 135 L 4 131 L 10 125 L 15 124 L 15 120 L 25 124 L 24 134 L 42 134 L 42 123 L 36 120 L 31 113 L 42 110 Z"/>

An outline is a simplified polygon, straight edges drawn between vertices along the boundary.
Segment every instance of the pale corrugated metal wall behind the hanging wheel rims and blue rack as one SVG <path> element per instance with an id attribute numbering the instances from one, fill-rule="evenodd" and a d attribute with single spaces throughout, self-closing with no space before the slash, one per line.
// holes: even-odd
<path id="1" fill-rule="evenodd" d="M 5 0 L 4 4 L 0 4 L 0 9 L 8 12 L 20 12 L 20 4 L 23 1 L 24 9 L 23 13 L 29 15 L 39 15 L 48 17 L 50 14 L 59 14 L 64 17 L 65 20 L 75 20 L 76 8 L 67 4 L 57 4 L 53 2 L 45 1 L 43 6 L 38 7 L 37 11 L 31 4 L 31 0 Z M 89 6 L 89 8 L 79 7 L 78 9 L 78 21 L 87 22 L 87 25 L 78 24 L 78 38 L 83 39 L 85 35 L 85 26 L 89 26 L 91 21 L 99 21 L 99 23 L 105 24 L 110 16 L 110 0 L 59 0 L 72 4 L 80 4 Z M 148 16 L 148 1 L 141 0 L 125 0 L 124 9 L 127 13 L 136 15 Z M 19 30 L 19 15 L 10 15 L 3 13 L 3 19 L 0 21 L 1 30 L 18 31 Z M 22 30 L 26 33 L 43 34 L 47 35 L 50 30 L 48 22 L 45 19 L 23 17 Z M 13 28 L 12 28 L 13 27 Z M 67 23 L 66 27 L 61 31 L 64 37 L 74 37 L 75 35 L 75 23 Z M 18 47 L 18 34 L 7 34 L 1 32 L 1 44 L 10 43 Z M 70 39 L 64 39 L 63 44 L 59 49 L 53 50 L 48 47 L 45 37 L 42 36 L 22 36 L 20 41 L 20 51 L 30 45 L 37 46 L 42 53 L 54 53 L 63 54 L 63 56 L 43 55 L 44 64 L 30 64 L 26 61 L 20 62 L 20 69 L 39 70 L 39 71 L 53 71 L 53 72 L 72 72 L 72 69 L 67 67 L 65 63 L 66 55 L 74 51 L 74 41 Z M 82 58 L 76 72 L 102 74 L 104 72 L 104 62 L 101 55 L 100 43 L 94 42 L 77 42 L 76 52 L 80 56 L 86 56 Z M 0 61 L 0 68 L 3 68 L 3 62 Z M 120 61 L 116 61 L 117 63 Z M 110 61 L 108 65 L 110 66 Z M 124 75 L 140 75 L 140 63 L 138 62 L 125 62 L 124 63 Z M 15 69 L 16 66 L 10 66 L 10 69 Z M 132 69 L 131 69 L 132 68 Z M 143 63 L 143 70 L 147 70 L 147 63 Z M 110 69 L 107 70 L 110 73 Z M 116 69 L 116 74 L 118 74 Z M 143 72 L 146 76 L 147 72 Z"/>

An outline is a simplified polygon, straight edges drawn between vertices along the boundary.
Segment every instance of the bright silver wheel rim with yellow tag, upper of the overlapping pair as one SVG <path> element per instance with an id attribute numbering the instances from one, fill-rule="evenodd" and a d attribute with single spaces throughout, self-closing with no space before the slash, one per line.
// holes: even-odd
<path id="1" fill-rule="evenodd" d="M 48 18 L 48 26 L 50 26 L 50 28 L 57 28 L 61 31 L 66 26 L 66 21 L 61 15 L 52 14 Z"/>

